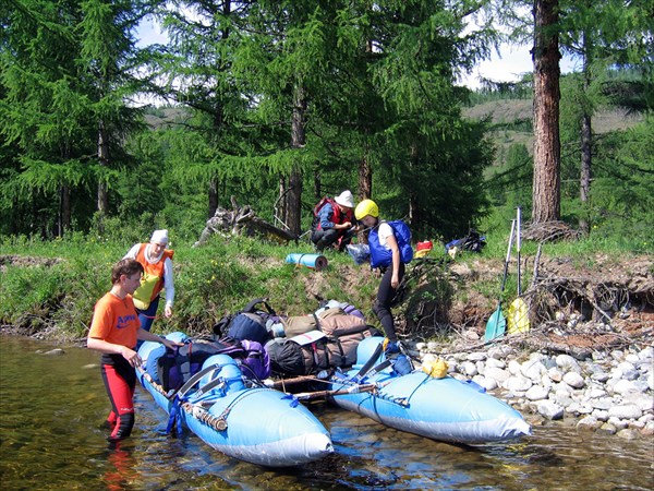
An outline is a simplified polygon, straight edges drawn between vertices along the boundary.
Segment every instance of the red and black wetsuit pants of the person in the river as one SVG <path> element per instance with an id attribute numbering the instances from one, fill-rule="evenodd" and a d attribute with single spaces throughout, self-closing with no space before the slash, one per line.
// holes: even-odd
<path id="1" fill-rule="evenodd" d="M 120 355 L 102 355 L 102 381 L 111 402 L 107 422 L 113 428 L 108 440 L 130 436 L 134 427 L 134 387 L 136 372 Z"/>

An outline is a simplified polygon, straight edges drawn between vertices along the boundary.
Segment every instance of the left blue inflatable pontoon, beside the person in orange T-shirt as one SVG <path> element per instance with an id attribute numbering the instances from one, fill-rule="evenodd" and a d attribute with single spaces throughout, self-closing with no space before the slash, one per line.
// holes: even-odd
<path id="1" fill-rule="evenodd" d="M 166 337 L 182 342 L 183 334 Z M 159 347 L 144 343 L 143 360 Z M 327 430 L 298 400 L 267 388 L 249 386 L 228 355 L 207 358 L 202 370 L 177 393 L 167 393 L 147 370 L 137 369 L 141 384 L 169 415 L 169 430 L 183 427 L 213 448 L 241 460 L 289 467 L 317 460 L 334 452 Z"/>

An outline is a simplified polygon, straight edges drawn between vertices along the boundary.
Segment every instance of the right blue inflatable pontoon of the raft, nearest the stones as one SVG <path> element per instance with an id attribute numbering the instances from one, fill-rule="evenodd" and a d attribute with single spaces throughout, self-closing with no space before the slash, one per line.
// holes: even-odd
<path id="1" fill-rule="evenodd" d="M 352 370 L 331 378 L 330 390 L 338 394 L 331 399 L 339 407 L 397 430 L 445 442 L 488 443 L 531 434 L 520 412 L 475 384 L 451 376 L 435 379 L 421 371 L 400 376 L 390 367 L 361 374 L 364 364 L 386 364 L 377 348 L 383 340 L 377 336 L 362 340 Z M 372 358 L 374 363 L 370 362 Z M 371 385 L 376 388 L 359 390 Z"/>

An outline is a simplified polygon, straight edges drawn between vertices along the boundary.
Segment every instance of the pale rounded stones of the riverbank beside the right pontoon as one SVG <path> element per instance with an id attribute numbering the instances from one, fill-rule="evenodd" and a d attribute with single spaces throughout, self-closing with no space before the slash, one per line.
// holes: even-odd
<path id="1" fill-rule="evenodd" d="M 416 343 L 411 350 L 423 362 L 446 360 L 451 376 L 471 379 L 532 426 L 573 418 L 580 431 L 625 439 L 654 435 L 652 346 L 592 351 L 584 360 L 500 343 L 471 350 Z"/>

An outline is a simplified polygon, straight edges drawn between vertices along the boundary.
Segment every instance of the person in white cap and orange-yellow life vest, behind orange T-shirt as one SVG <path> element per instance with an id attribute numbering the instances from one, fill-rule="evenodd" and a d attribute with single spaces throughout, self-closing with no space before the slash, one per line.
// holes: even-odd
<path id="1" fill-rule="evenodd" d="M 159 308 L 159 292 L 166 289 L 167 318 L 172 315 L 174 283 L 172 279 L 172 255 L 174 251 L 166 249 L 168 230 L 155 230 L 149 243 L 137 243 L 123 259 L 135 259 L 144 268 L 141 286 L 134 292 L 134 307 L 138 313 L 141 327 L 149 331 Z"/>

